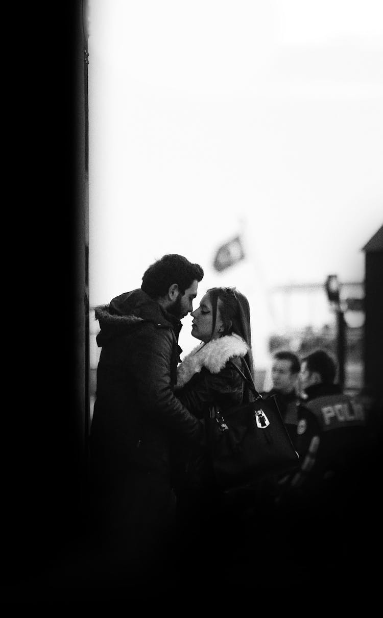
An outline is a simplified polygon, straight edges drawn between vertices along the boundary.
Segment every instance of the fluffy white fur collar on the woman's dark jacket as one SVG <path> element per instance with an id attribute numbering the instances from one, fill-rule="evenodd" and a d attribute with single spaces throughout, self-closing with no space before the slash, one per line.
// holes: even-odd
<path id="1" fill-rule="evenodd" d="M 243 357 L 247 351 L 248 345 L 236 334 L 225 335 L 207 344 L 197 345 L 177 367 L 176 388 L 184 386 L 195 373 L 200 373 L 203 367 L 211 373 L 219 373 L 229 358 Z"/>

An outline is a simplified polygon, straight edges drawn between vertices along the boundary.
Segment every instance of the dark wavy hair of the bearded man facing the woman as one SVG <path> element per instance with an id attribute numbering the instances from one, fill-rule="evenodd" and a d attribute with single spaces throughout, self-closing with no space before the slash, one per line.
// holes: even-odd
<path id="1" fill-rule="evenodd" d="M 199 264 L 192 264 L 183 255 L 167 253 L 146 269 L 141 290 L 151 298 L 161 298 L 167 294 L 169 287 L 176 283 L 181 294 L 185 294 L 185 290 L 195 279 L 201 281 L 202 278 L 203 269 Z"/>

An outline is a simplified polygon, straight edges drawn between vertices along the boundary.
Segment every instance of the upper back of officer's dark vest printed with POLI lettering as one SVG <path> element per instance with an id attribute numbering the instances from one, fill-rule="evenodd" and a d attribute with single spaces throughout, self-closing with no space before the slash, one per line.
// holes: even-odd
<path id="1" fill-rule="evenodd" d="M 321 431 L 366 425 L 366 413 L 363 406 L 347 395 L 317 397 L 303 405 L 314 413 Z"/>

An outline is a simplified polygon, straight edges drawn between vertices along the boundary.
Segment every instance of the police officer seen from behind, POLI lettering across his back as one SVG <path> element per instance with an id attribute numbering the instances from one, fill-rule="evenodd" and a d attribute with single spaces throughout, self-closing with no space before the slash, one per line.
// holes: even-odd
<path id="1" fill-rule="evenodd" d="M 298 406 L 295 439 L 301 465 L 291 480 L 292 488 L 320 493 L 339 487 L 364 445 L 364 409 L 342 393 L 335 384 L 336 373 L 336 363 L 325 350 L 301 360 L 299 381 L 305 399 Z"/>

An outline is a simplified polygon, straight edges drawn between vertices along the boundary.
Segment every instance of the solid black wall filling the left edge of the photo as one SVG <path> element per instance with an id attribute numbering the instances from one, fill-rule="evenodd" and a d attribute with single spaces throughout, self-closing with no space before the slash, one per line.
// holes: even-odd
<path id="1" fill-rule="evenodd" d="M 23 7 L 15 62 L 12 281 L 4 345 L 1 585 L 43 572 L 85 525 L 88 415 L 87 93 L 83 2 Z M 40 24 L 40 26 L 39 26 Z M 10 88 L 11 90 L 11 88 Z M 12 101 L 17 104 L 12 91 Z M 9 121 L 7 121 L 9 122 Z M 12 202 L 12 203 L 11 203 Z M 7 271 L 9 268 L 7 267 Z M 4 278 L 3 278 L 4 284 Z"/>

